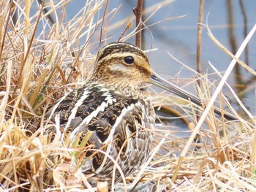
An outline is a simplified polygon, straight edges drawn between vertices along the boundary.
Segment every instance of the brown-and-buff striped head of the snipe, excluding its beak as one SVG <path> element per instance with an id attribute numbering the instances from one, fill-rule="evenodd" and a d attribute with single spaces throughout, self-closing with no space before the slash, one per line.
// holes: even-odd
<path id="1" fill-rule="evenodd" d="M 150 77 L 151 67 L 142 50 L 129 43 L 112 42 L 99 52 L 92 78 L 112 85 L 139 88 Z"/>

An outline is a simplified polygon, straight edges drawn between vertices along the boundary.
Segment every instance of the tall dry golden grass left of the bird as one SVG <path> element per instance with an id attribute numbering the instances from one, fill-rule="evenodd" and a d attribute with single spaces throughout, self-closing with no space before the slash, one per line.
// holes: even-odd
<path id="1" fill-rule="evenodd" d="M 61 175 L 75 177 L 71 159 L 75 155 L 60 145 L 59 127 L 53 137 L 50 132 L 42 134 L 47 127 L 39 125 L 46 107 L 67 88 L 79 86 L 72 82 L 82 82 L 90 74 L 91 47 L 99 38 L 91 37 L 101 22 L 94 20 L 104 1 L 86 4 L 80 15 L 66 21 L 68 3 L 50 1 L 43 15 L 36 1 L 1 2 L 1 189 L 58 190 L 66 188 Z M 33 14 L 31 6 L 36 9 Z M 56 16 L 54 25 L 48 14 Z M 80 39 L 86 43 L 80 45 Z M 67 164 L 71 168 L 60 172 Z M 67 183 L 67 188 L 77 187 L 75 181 Z"/>

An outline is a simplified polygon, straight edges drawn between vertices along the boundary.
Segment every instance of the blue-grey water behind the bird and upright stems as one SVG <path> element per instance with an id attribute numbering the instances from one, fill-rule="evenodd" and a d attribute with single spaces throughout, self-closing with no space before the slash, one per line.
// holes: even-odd
<path id="1" fill-rule="evenodd" d="M 161 3 L 162 2 L 162 3 Z M 242 1 L 244 4 L 244 9 L 246 15 L 242 14 L 241 4 L 238 0 L 208 0 L 205 1 L 205 10 L 204 10 L 204 19 L 203 24 L 208 23 L 209 28 L 214 36 L 222 43 L 228 50 L 232 50 L 229 30 L 233 31 L 235 37 L 235 44 L 238 47 L 244 40 L 244 30 L 245 27 L 247 31 L 252 29 L 256 23 L 256 1 L 245 0 Z M 233 26 L 230 26 L 228 23 L 228 13 L 227 4 L 230 4 L 230 11 L 232 12 L 231 17 L 233 18 Z M 84 1 L 71 1 L 67 5 L 67 18 L 74 17 L 75 13 L 78 12 L 80 7 L 83 7 L 85 4 Z M 109 12 L 114 8 L 118 7 L 121 4 L 119 11 L 117 12 L 115 18 L 108 24 L 108 26 L 113 25 L 118 21 L 123 21 L 123 26 L 115 28 L 114 30 L 107 31 L 107 36 L 110 38 L 108 42 L 116 41 L 121 34 L 121 31 L 124 30 L 125 25 L 128 22 L 128 18 L 132 18 L 132 8 L 136 7 L 137 1 L 110 1 Z M 155 71 L 165 77 L 166 79 L 172 79 L 173 82 L 183 82 L 184 80 L 191 80 L 194 77 L 195 73 L 184 68 L 181 64 L 178 64 L 172 58 L 170 58 L 170 53 L 175 58 L 177 58 L 182 63 L 191 67 L 192 69 L 196 68 L 196 43 L 197 43 L 197 23 L 198 23 L 198 7 L 199 1 L 195 0 L 177 0 L 170 1 L 167 4 L 167 1 L 144 1 L 144 9 L 148 9 L 154 4 L 161 6 L 159 10 L 154 14 L 150 20 L 146 22 L 146 26 L 150 26 L 153 23 L 157 23 L 161 20 L 167 18 L 174 18 L 184 15 L 182 18 L 165 20 L 154 26 L 148 27 L 144 31 L 143 37 L 143 48 L 144 50 L 151 50 L 151 48 L 157 48 L 155 51 L 148 53 L 151 66 Z M 156 10 L 156 9 L 154 9 Z M 100 12 L 102 12 L 102 9 Z M 148 18 L 148 15 L 151 15 L 151 12 L 143 16 L 145 20 Z M 245 26 L 244 18 L 246 17 L 247 23 Z M 135 17 L 133 17 L 133 26 L 127 31 L 130 32 L 135 28 Z M 108 28 L 107 28 L 108 29 Z M 135 37 L 132 37 L 127 40 L 127 42 L 135 43 Z M 252 69 L 256 69 L 256 34 L 249 42 L 247 60 L 245 54 L 241 56 L 242 61 L 248 61 L 248 65 Z M 223 53 L 222 50 L 217 47 L 217 45 L 212 42 L 208 37 L 206 27 L 203 27 L 202 34 L 202 68 L 204 73 L 211 74 L 214 72 L 209 66 L 208 61 L 213 64 L 219 72 L 222 74 L 227 69 L 227 66 L 230 64 L 231 58 Z M 249 74 L 244 69 L 240 68 L 239 73 L 241 74 L 242 82 L 238 82 L 237 73 L 233 70 L 232 76 L 229 77 L 228 82 L 236 90 L 235 85 L 237 83 L 248 84 L 250 80 L 253 80 L 252 74 Z M 217 75 L 211 75 L 208 77 L 212 82 L 219 80 Z M 177 80 L 178 79 L 178 80 Z M 255 87 L 255 81 L 250 85 Z M 187 90 L 195 93 L 195 87 L 189 86 Z M 237 90 L 239 91 L 239 90 Z M 255 89 L 252 88 L 251 91 L 248 91 L 243 97 L 242 101 L 253 113 L 255 112 Z M 230 91 L 227 88 L 224 88 L 223 91 L 226 95 L 230 95 Z M 231 100 L 233 97 L 231 96 Z"/>

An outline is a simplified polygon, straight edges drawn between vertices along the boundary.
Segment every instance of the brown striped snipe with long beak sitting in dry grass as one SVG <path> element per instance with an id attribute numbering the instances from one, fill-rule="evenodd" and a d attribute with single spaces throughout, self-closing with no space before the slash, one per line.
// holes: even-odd
<path id="1" fill-rule="evenodd" d="M 71 142 L 78 134 L 82 141 L 91 133 L 89 144 L 117 159 L 124 176 L 129 176 L 147 161 L 154 138 L 156 114 L 141 85 L 154 84 L 195 104 L 202 102 L 160 77 L 146 53 L 127 42 L 105 45 L 95 63 L 89 80 L 56 101 L 45 119 L 54 123 L 59 115 Z M 113 161 L 105 154 L 95 153 L 86 167 L 102 180 L 120 181 L 121 174 L 113 175 Z"/>

